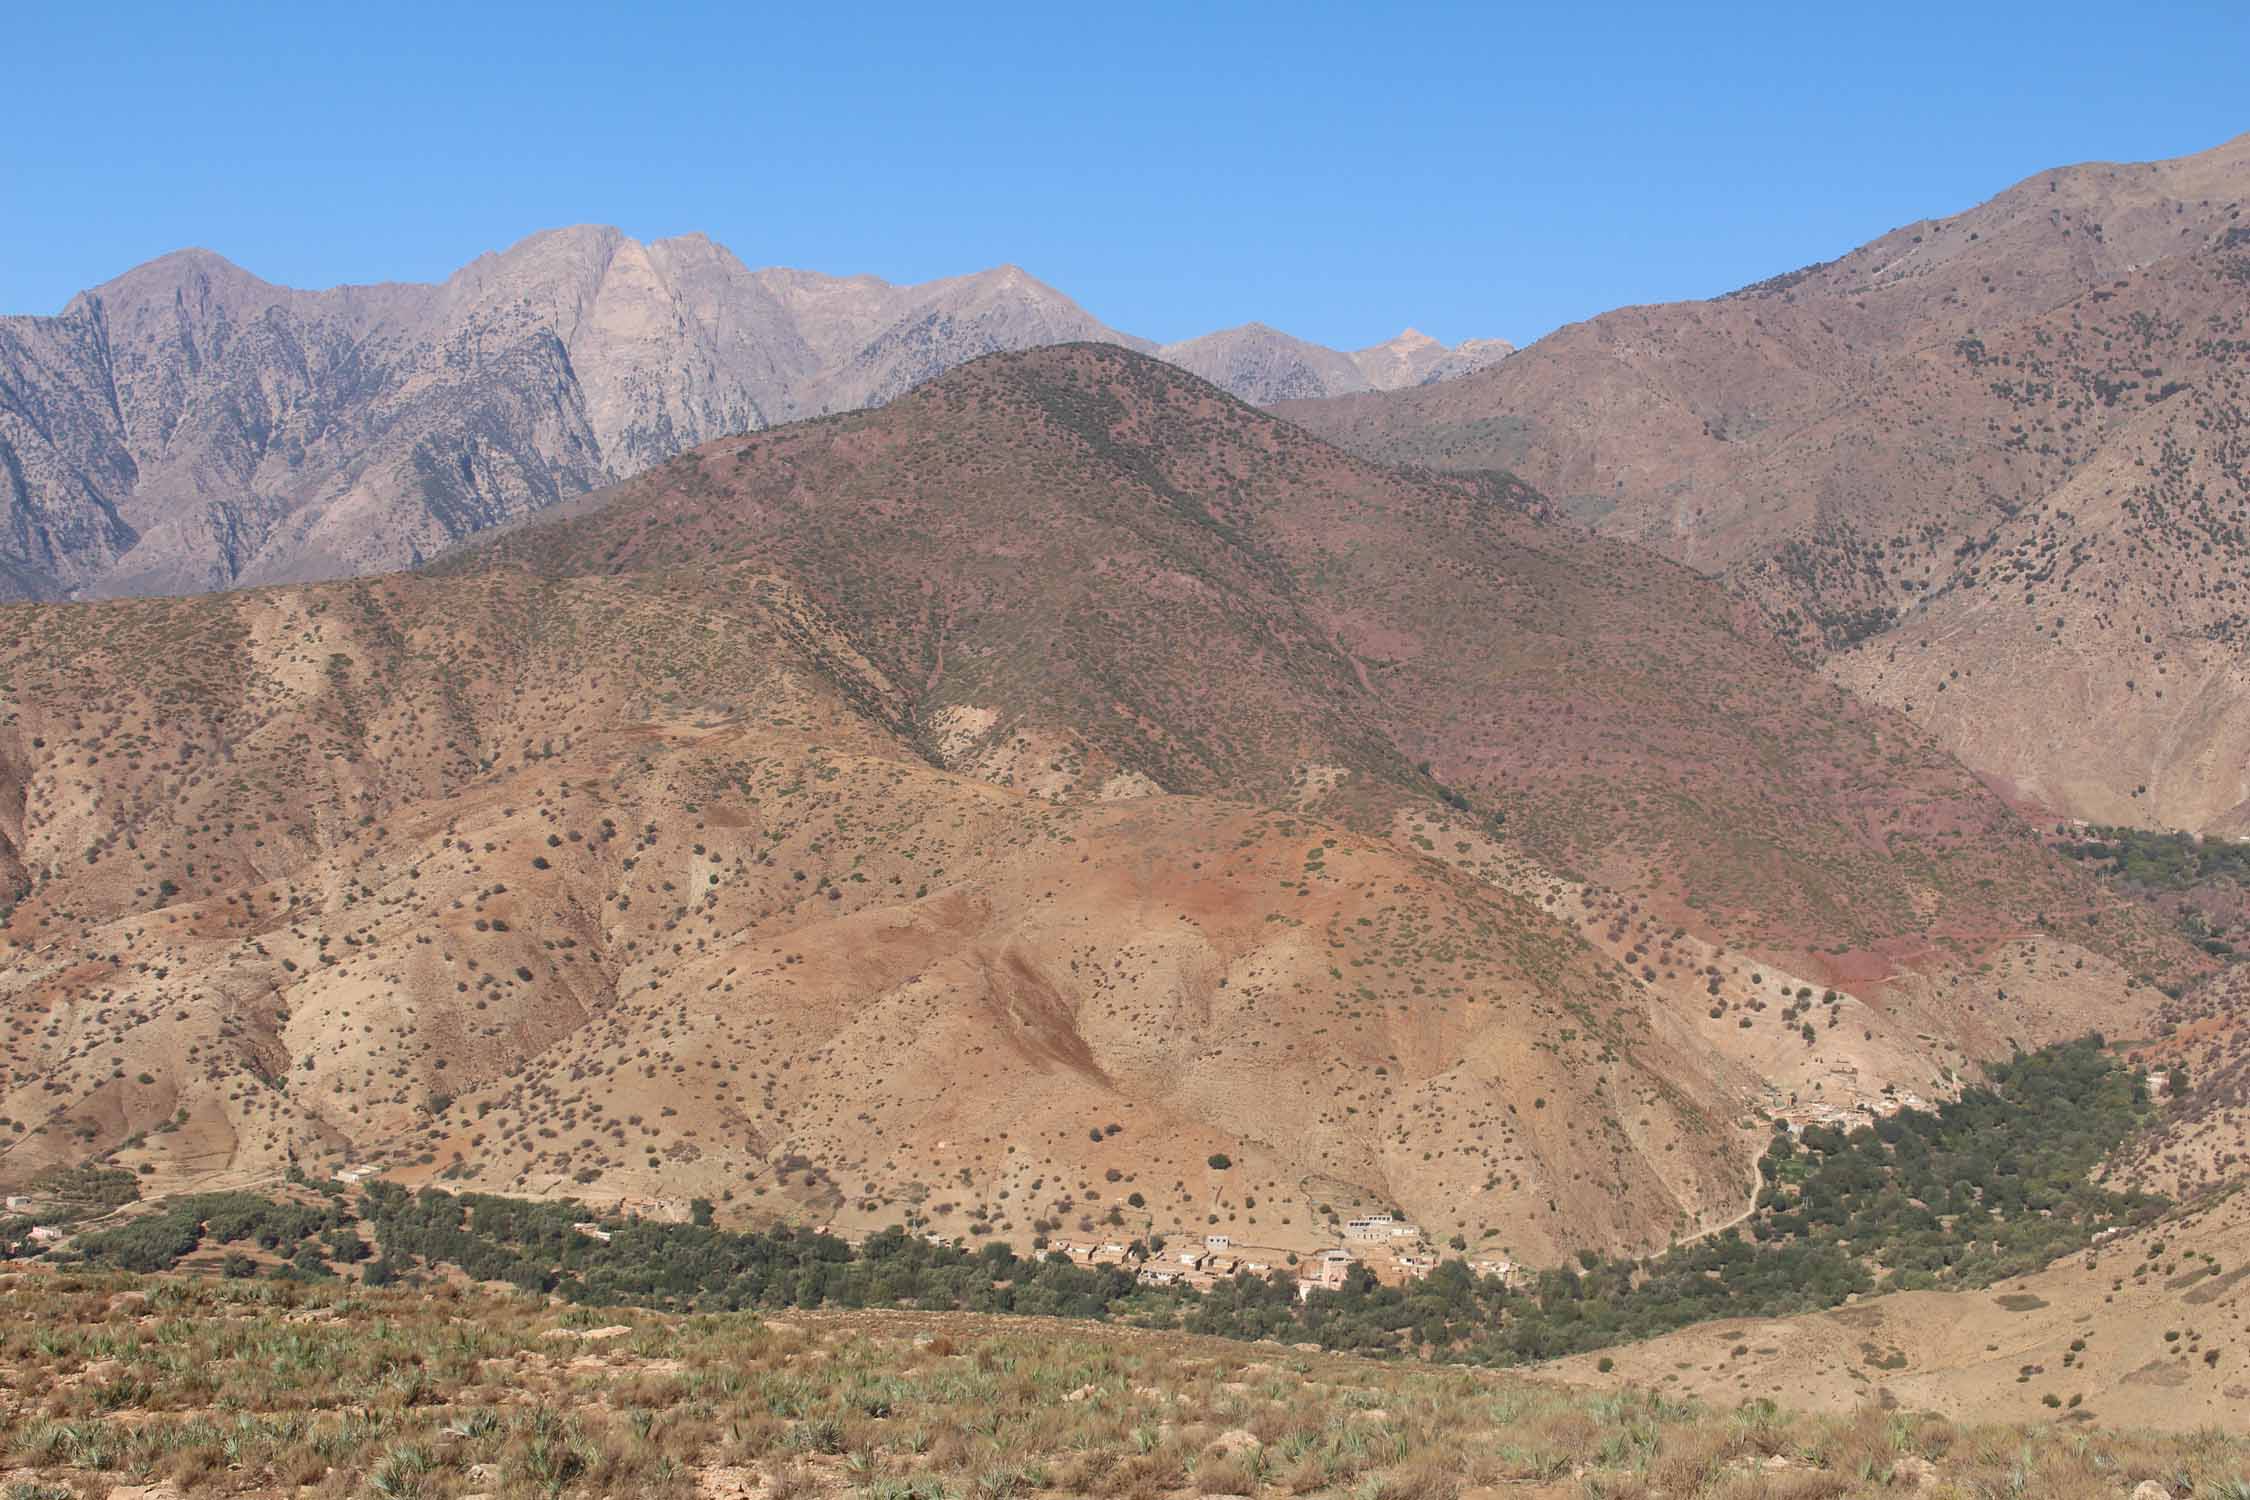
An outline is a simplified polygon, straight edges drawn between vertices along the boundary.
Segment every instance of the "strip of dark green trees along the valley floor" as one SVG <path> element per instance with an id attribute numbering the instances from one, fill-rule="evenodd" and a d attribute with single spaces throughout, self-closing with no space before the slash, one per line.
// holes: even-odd
<path id="1" fill-rule="evenodd" d="M 1206 1293 L 1138 1286 L 1125 1268 L 976 1250 L 891 1228 L 860 1244 L 792 1230 L 608 1221 L 580 1232 L 578 1203 L 407 1192 L 374 1183 L 315 1205 L 205 1194 L 88 1235 L 88 1262 L 162 1271 L 202 1246 L 256 1244 L 284 1275 L 367 1262 L 369 1284 L 457 1268 L 482 1282 L 585 1304 L 677 1311 L 918 1307 L 1116 1318 L 1228 1338 L 1310 1340 L 1366 1354 L 1516 1365 L 1649 1338 L 1708 1318 L 1786 1316 L 1854 1293 L 1964 1284 L 2030 1271 L 2160 1199 L 2097 1185 L 2102 1158 L 2149 1113 L 2146 1084 L 2102 1037 L 2018 1055 L 1935 1111 L 1901 1109 L 1856 1129 L 1775 1131 L 1750 1219 L 1654 1257 L 1580 1253 L 1510 1286 L 1460 1259 L 1406 1286 L 1361 1266 L 1341 1289 L 1298 1298 L 1296 1277 L 1233 1277 Z M 380 1259 L 360 1237 L 374 1232 Z M 236 1271 L 241 1264 L 236 1262 Z"/>

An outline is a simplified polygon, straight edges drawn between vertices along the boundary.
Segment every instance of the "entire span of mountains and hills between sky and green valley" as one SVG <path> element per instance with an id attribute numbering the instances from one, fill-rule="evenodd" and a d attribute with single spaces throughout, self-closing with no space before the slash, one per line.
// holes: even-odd
<path id="1" fill-rule="evenodd" d="M 2246 187 L 1505 360 L 610 229 L 4 322 L 0 1181 L 1559 1264 L 2099 1030 L 2198 1192 L 2225 906 L 2059 823 L 2246 830 Z"/>

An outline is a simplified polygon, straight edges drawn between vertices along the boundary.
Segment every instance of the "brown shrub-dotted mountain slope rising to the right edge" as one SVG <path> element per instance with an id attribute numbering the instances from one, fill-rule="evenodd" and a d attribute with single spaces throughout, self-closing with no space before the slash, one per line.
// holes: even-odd
<path id="1" fill-rule="evenodd" d="M 2027 807 L 2250 834 L 2250 135 L 1280 407 L 1724 576 Z"/>

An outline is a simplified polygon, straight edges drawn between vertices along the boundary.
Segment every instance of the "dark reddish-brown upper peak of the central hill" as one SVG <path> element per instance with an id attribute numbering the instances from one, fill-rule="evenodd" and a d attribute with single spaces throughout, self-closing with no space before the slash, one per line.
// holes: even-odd
<path id="1" fill-rule="evenodd" d="M 1458 787 L 1557 870 L 1858 976 L 2043 915 L 2120 922 L 1951 758 L 1688 569 L 1123 351 L 979 362 L 580 508 L 450 567 L 785 571 L 860 621 L 882 711 L 961 769 L 1026 742 L 1172 792 L 1280 801 L 1314 776 L 1361 819 Z"/>

